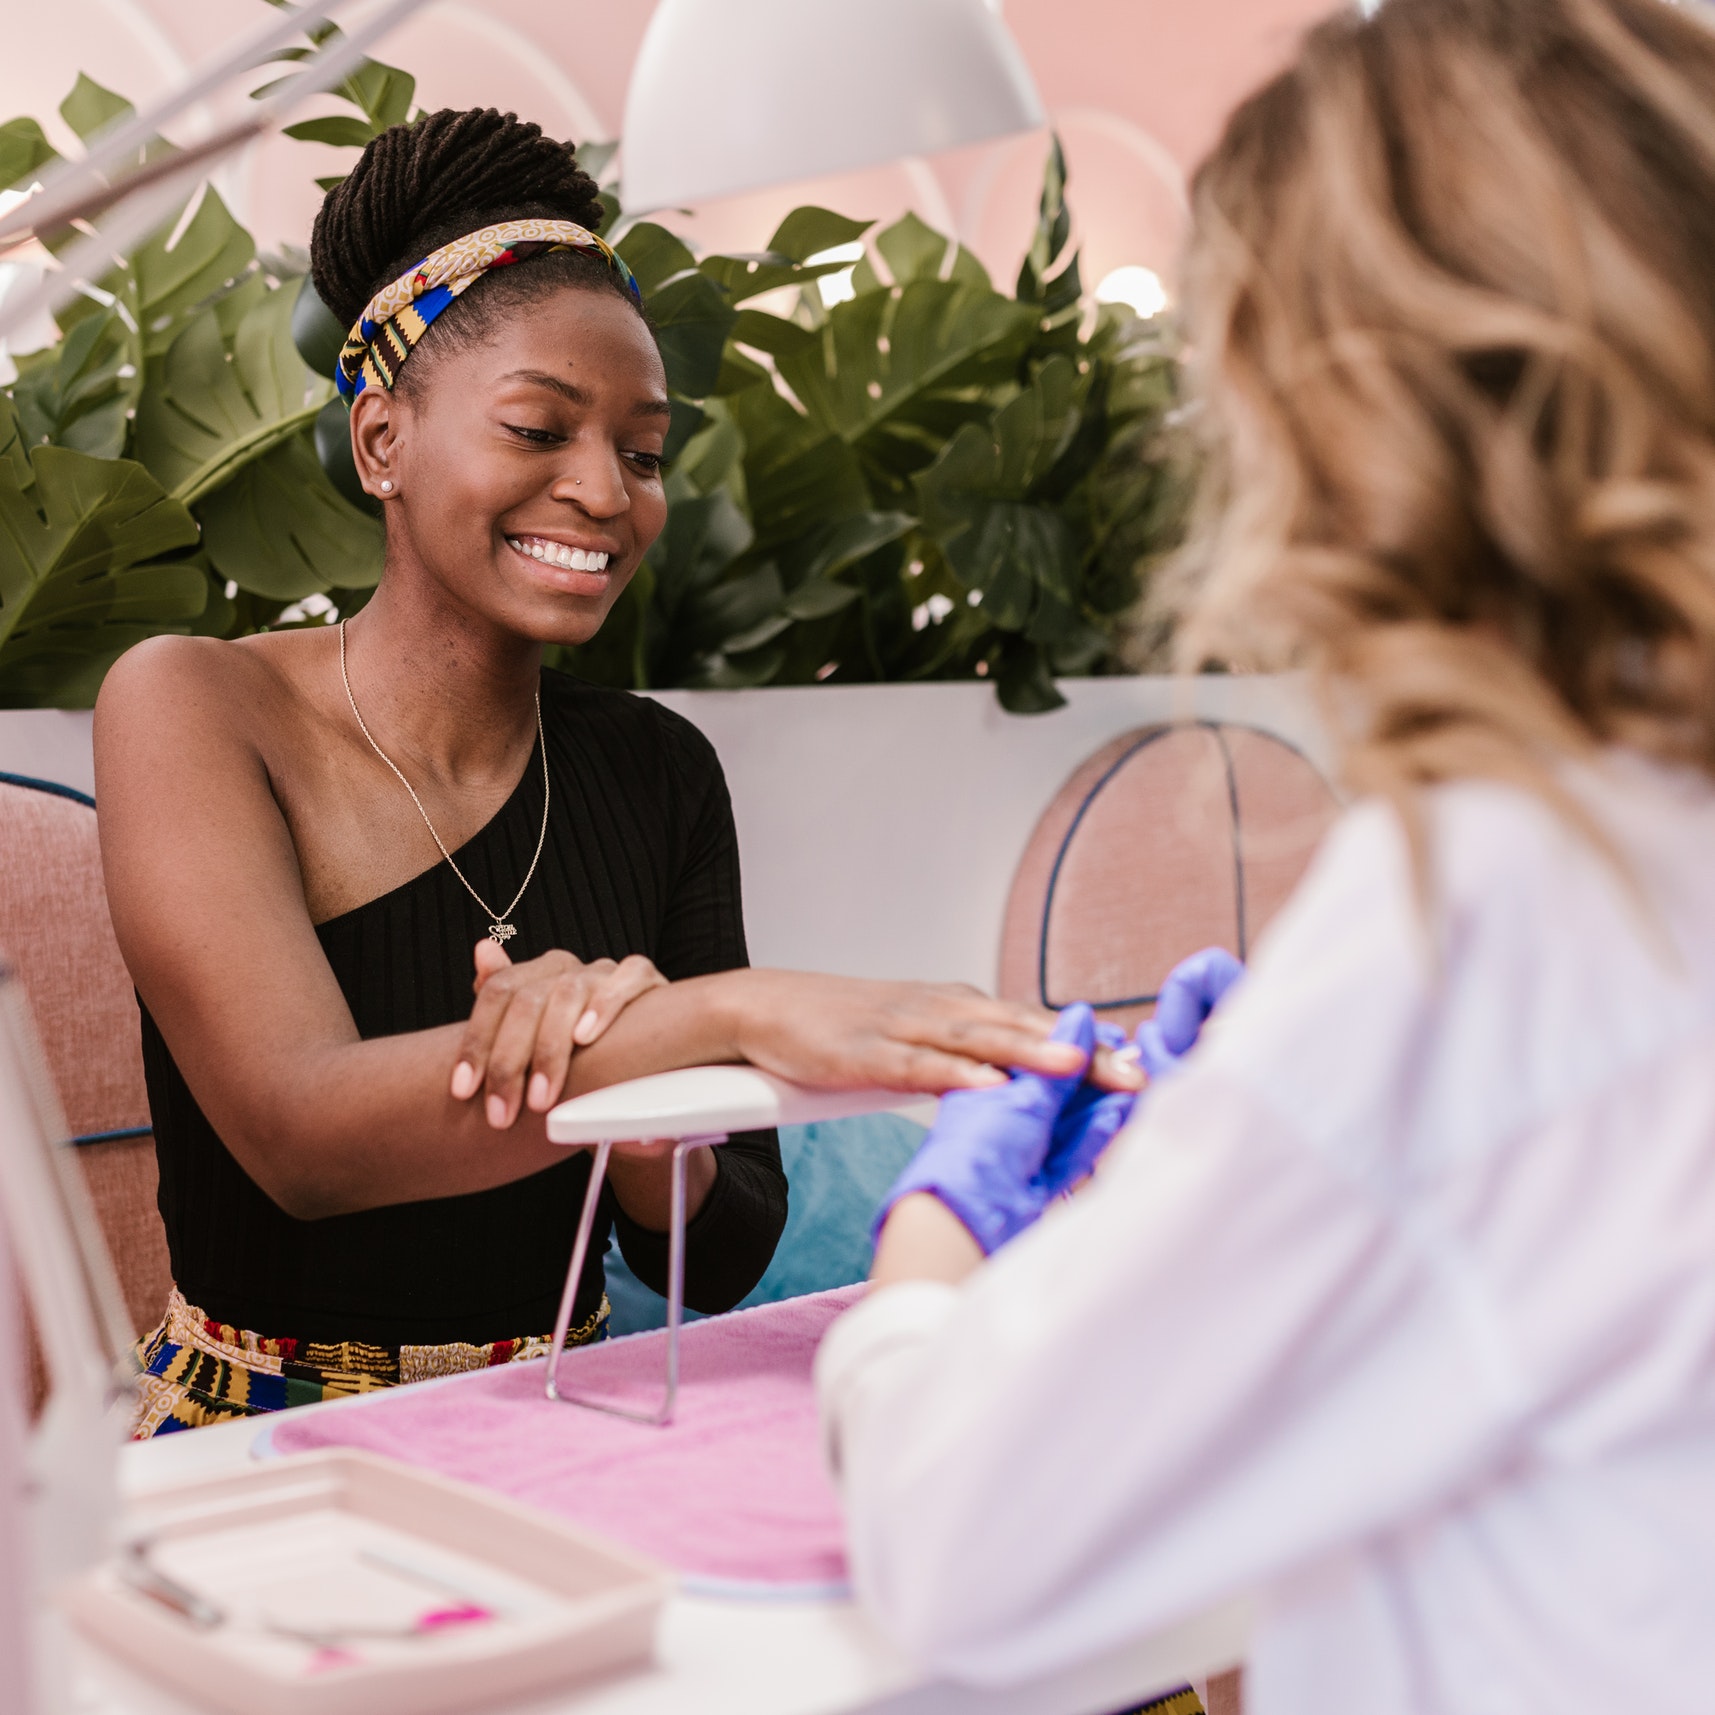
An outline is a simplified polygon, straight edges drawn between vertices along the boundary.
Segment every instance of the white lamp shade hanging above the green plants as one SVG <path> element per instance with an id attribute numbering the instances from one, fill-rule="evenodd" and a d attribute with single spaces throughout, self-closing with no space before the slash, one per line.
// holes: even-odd
<path id="1" fill-rule="evenodd" d="M 623 202 L 679 208 L 1043 123 L 984 0 L 660 0 L 626 94 Z"/>

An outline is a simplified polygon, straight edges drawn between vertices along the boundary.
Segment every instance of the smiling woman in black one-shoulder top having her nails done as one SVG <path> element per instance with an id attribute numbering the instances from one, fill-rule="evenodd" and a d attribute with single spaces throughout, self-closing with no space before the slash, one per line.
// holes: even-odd
<path id="1" fill-rule="evenodd" d="M 511 115 L 377 137 L 312 273 L 352 328 L 381 583 L 326 629 L 154 640 L 103 686 L 103 863 L 177 1283 L 139 1434 L 544 1350 L 588 1183 L 547 1142 L 564 1096 L 719 1060 L 924 1091 L 1082 1065 L 972 991 L 744 969 L 708 743 L 542 669 L 667 509 L 662 362 L 599 223 L 571 147 Z M 727 1309 L 785 1219 L 779 1147 L 688 1171 L 686 1302 Z M 665 1279 L 665 1149 L 616 1147 L 609 1176 L 580 1339 L 607 1230 Z"/>

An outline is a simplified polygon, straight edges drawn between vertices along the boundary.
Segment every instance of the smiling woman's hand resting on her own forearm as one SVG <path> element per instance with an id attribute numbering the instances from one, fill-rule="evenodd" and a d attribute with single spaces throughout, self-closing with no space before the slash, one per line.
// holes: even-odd
<path id="1" fill-rule="evenodd" d="M 525 1103 L 547 1113 L 566 1087 L 573 1053 L 597 1041 L 638 995 L 667 983 L 641 954 L 585 964 L 549 952 L 514 966 L 490 940 L 477 942 L 475 967 L 477 1003 L 458 1046 L 453 1096 L 466 1101 L 487 1087 L 496 1130 L 506 1130 Z"/>

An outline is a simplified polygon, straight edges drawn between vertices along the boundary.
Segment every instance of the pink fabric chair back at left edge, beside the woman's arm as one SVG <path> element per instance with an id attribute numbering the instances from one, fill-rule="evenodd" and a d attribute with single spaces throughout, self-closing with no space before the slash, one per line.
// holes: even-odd
<path id="1" fill-rule="evenodd" d="M 137 998 L 82 792 L 0 773 L 0 948 L 29 996 L 125 1307 L 139 1331 L 153 1327 L 173 1276 L 154 1206 Z"/>

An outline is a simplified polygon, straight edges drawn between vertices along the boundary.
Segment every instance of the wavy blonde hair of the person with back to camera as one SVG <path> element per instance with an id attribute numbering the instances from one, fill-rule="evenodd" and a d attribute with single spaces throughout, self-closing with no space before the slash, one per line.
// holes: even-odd
<path id="1" fill-rule="evenodd" d="M 1348 784 L 1715 773 L 1715 34 L 1384 0 L 1194 189 L 1209 439 L 1178 659 L 1315 672 Z M 1595 832 L 1595 830 L 1592 830 Z"/>

